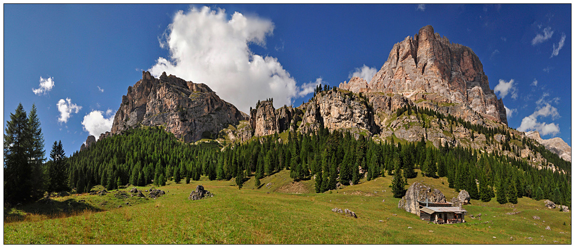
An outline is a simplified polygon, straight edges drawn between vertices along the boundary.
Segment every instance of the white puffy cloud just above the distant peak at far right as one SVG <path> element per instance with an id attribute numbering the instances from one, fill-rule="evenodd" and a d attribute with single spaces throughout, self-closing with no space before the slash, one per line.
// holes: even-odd
<path id="1" fill-rule="evenodd" d="M 559 126 L 555 123 L 539 122 L 538 117 L 549 117 L 555 119 L 559 117 L 557 108 L 546 103 L 545 106 L 538 106 L 534 113 L 523 118 L 521 125 L 517 127 L 519 131 L 539 131 L 541 135 L 559 133 Z"/>

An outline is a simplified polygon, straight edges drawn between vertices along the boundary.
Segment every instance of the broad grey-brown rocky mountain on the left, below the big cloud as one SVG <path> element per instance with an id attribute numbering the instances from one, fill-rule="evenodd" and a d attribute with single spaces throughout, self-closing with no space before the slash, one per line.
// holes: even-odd
<path id="1" fill-rule="evenodd" d="M 142 72 L 142 79 L 122 96 L 111 133 L 140 125 L 162 125 L 177 138 L 193 142 L 214 138 L 224 127 L 247 118 L 205 84 L 186 82 L 166 73 L 156 79 L 150 72 Z"/>

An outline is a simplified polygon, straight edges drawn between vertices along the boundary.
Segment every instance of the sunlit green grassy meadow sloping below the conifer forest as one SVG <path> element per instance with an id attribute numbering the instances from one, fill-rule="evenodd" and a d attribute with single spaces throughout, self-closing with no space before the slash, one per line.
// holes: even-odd
<path id="1" fill-rule="evenodd" d="M 289 171 L 282 170 L 263 178 L 259 189 L 253 179 L 237 189 L 234 180 L 202 177 L 190 184 L 168 182 L 160 189 L 169 192 L 156 200 L 117 199 L 116 191 L 59 197 L 59 203 L 50 206 L 66 204 L 72 216 L 46 211 L 26 215 L 45 206 L 21 206 L 11 210 L 11 222 L 5 218 L 4 243 L 571 243 L 571 213 L 549 210 L 542 200 L 523 197 L 515 205 L 472 200 L 464 207 L 467 223 L 429 224 L 397 208 L 399 199 L 388 187 L 391 179 L 363 179 L 359 185 L 320 194 L 280 193 L 302 187 L 313 192 L 313 180 L 299 182 L 302 187 L 284 187 L 293 181 Z M 438 188 L 448 200 L 457 195 L 444 178 L 418 176 L 408 183 L 415 181 Z M 187 200 L 198 184 L 214 197 Z M 74 209 L 66 203 L 78 200 L 85 205 Z M 332 212 L 334 207 L 348 208 L 358 219 Z M 469 218 L 479 213 L 481 221 Z"/>

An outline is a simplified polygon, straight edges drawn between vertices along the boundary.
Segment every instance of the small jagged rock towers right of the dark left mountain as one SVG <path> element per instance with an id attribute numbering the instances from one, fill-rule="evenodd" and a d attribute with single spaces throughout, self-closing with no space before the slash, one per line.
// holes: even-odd
<path id="1" fill-rule="evenodd" d="M 264 136 L 293 130 L 298 121 L 301 121 L 302 111 L 283 106 L 277 110 L 273 100 L 259 102 L 255 109 L 250 111 L 250 126 L 255 136 Z"/>

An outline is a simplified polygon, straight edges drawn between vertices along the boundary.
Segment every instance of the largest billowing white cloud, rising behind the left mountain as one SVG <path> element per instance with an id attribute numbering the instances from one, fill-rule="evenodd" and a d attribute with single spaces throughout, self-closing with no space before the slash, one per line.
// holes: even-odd
<path id="1" fill-rule="evenodd" d="M 208 84 L 224 100 L 247 113 L 258 99 L 274 98 L 278 106 L 292 104 L 293 98 L 309 94 L 299 87 L 278 59 L 257 55 L 248 47 L 266 44 L 274 24 L 252 15 L 224 9 L 191 7 L 178 11 L 160 46 L 170 51 L 160 57 L 150 72 L 162 72 L 194 83 Z"/>

